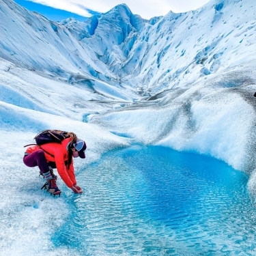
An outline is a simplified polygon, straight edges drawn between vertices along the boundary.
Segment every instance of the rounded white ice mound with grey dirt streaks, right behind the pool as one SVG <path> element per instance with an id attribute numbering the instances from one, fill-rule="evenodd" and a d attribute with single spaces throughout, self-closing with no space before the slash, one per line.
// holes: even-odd
<path id="1" fill-rule="evenodd" d="M 253 68 L 251 74 L 245 70 L 209 76 L 158 100 L 91 115 L 89 122 L 141 143 L 214 156 L 251 173 L 256 160 L 256 76 Z"/>

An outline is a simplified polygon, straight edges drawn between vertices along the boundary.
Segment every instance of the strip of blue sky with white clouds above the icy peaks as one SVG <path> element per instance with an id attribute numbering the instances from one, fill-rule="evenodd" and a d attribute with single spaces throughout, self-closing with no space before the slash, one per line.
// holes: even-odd
<path id="1" fill-rule="evenodd" d="M 133 14 L 150 19 L 154 16 L 165 16 L 169 11 L 188 12 L 200 8 L 210 0 L 14 0 L 28 10 L 39 12 L 50 20 L 63 20 L 74 17 L 83 21 L 91 15 L 108 12 L 121 3 L 126 3 Z"/>

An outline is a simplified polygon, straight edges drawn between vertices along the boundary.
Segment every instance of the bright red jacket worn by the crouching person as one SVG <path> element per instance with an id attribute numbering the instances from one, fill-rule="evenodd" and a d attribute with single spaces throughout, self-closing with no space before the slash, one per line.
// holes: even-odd
<path id="1" fill-rule="evenodd" d="M 70 142 L 71 138 L 64 139 L 61 144 L 60 143 L 47 143 L 45 145 L 42 145 L 42 150 L 45 150 L 46 152 L 52 154 L 53 156 L 50 156 L 46 152 L 44 152 L 44 156 L 47 160 L 47 162 L 55 162 L 57 171 L 59 173 L 59 176 L 65 182 L 65 184 L 71 188 L 73 185 L 76 184 L 76 177 L 74 175 L 74 166 L 73 166 L 73 160 L 70 165 L 70 169 L 68 169 L 68 166 L 65 166 L 65 161 L 68 160 L 68 150 L 67 146 Z M 28 147 L 26 152 L 31 154 L 32 152 L 35 152 L 37 150 L 40 150 L 40 147 L 38 145 L 34 147 Z"/>

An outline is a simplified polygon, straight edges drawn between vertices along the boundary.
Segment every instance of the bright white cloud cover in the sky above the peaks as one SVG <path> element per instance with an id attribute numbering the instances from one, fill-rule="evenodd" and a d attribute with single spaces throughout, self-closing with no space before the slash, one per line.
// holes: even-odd
<path id="1" fill-rule="evenodd" d="M 51 6 L 56 9 L 66 10 L 81 16 L 91 16 L 86 9 L 95 12 L 108 12 L 115 5 L 126 3 L 133 14 L 139 14 L 142 18 L 152 18 L 154 16 L 164 16 L 169 11 L 188 12 L 195 10 L 210 0 L 29 0 L 42 5 Z"/>

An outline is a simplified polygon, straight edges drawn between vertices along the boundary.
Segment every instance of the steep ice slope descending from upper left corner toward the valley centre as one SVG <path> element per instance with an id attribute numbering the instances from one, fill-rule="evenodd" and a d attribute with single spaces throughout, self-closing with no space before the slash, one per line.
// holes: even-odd
<path id="1" fill-rule="evenodd" d="M 46 78 L 83 84 L 85 89 L 106 93 L 108 98 L 128 101 L 136 98 L 132 90 L 122 92 L 124 87 L 111 80 L 104 63 L 95 61 L 94 50 L 84 47 L 65 26 L 29 12 L 12 0 L 0 4 L 0 57 Z"/>

